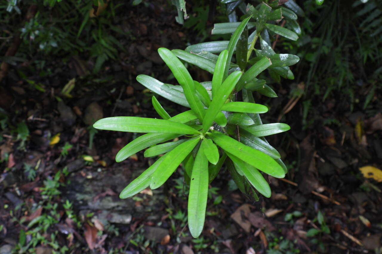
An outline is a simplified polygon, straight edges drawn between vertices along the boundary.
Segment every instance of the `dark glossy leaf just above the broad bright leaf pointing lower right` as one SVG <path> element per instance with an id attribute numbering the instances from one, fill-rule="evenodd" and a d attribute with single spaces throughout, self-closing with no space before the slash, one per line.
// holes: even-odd
<path id="1" fill-rule="evenodd" d="M 244 145 L 247 145 L 249 147 L 252 147 L 253 149 L 259 150 L 273 159 L 279 159 L 280 153 L 273 148 L 271 145 L 269 145 L 268 142 L 262 140 L 259 137 L 256 137 L 253 135 L 251 132 L 248 132 L 247 130 L 244 129 L 239 129 L 240 131 L 240 142 L 243 143 Z"/>

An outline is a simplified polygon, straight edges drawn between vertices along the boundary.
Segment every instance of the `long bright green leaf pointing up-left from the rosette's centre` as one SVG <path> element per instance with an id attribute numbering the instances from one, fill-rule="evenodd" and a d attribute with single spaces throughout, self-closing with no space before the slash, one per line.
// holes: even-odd
<path id="1" fill-rule="evenodd" d="M 167 48 L 159 48 L 158 53 L 159 56 L 163 59 L 163 61 L 167 64 L 168 68 L 170 68 L 170 70 L 174 74 L 175 79 L 178 80 L 179 84 L 183 88 L 183 92 L 185 93 L 186 99 L 191 109 L 195 112 L 199 119 L 203 119 L 203 105 L 195 94 L 194 81 L 191 78 L 191 75 L 187 71 L 186 67 Z"/>

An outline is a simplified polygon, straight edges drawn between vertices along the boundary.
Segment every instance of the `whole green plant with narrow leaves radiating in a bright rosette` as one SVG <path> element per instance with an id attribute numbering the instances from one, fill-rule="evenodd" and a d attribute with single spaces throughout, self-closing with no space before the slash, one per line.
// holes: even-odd
<path id="1" fill-rule="evenodd" d="M 204 226 L 208 185 L 223 164 L 243 193 L 257 198 L 256 189 L 270 197 L 271 190 L 262 172 L 282 178 L 286 167 L 264 137 L 290 127 L 283 123 L 262 124 L 259 114 L 266 113 L 268 108 L 256 104 L 252 93 L 256 90 L 266 96 L 277 96 L 265 80 L 256 77 L 267 69 L 273 79 L 280 80 L 280 76 L 292 79 L 288 66 L 299 61 L 298 56 L 276 54 L 270 47 L 273 33 L 298 39 L 295 32 L 274 24 L 283 18 L 284 11 L 275 2 L 278 3 L 248 5 L 246 17 L 240 23 L 215 24 L 215 33 L 219 29 L 221 33 L 233 32 L 230 41 L 199 43 L 186 51 L 158 49 L 179 85 L 164 84 L 146 75 L 139 75 L 138 82 L 190 110 L 171 117 L 153 96 L 152 104 L 162 119 L 122 116 L 95 122 L 96 129 L 147 133 L 122 148 L 115 158 L 117 162 L 146 148 L 145 157 L 163 154 L 126 186 L 120 198 L 131 197 L 147 187 L 158 188 L 182 163 L 186 183 L 190 185 L 188 226 L 191 235 L 198 237 Z M 288 15 L 296 16 L 293 10 L 287 10 Z M 256 21 L 250 23 L 250 19 Z M 256 31 L 248 36 L 253 27 Z M 258 40 L 261 50 L 255 49 Z M 235 51 L 236 64 L 231 62 Z M 193 80 L 179 58 L 213 74 L 212 81 Z M 243 101 L 236 101 L 240 94 Z M 183 138 L 172 141 L 180 137 Z"/>

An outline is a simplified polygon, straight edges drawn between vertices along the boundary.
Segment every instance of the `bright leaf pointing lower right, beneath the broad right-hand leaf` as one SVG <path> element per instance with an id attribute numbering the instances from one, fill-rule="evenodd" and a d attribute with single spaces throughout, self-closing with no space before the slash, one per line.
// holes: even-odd
<path id="1" fill-rule="evenodd" d="M 228 154 L 228 156 L 233 156 L 232 154 Z M 272 194 L 269 184 L 267 181 L 264 179 L 262 174 L 257 170 L 255 167 L 249 165 L 248 163 L 241 161 L 241 163 L 235 163 L 236 161 L 241 161 L 239 158 L 236 157 L 235 160 L 233 161 L 233 164 L 236 168 L 237 171 L 243 172 L 244 176 L 247 178 L 249 183 L 257 190 L 259 191 L 262 195 L 265 197 L 269 198 L 270 195 Z"/>

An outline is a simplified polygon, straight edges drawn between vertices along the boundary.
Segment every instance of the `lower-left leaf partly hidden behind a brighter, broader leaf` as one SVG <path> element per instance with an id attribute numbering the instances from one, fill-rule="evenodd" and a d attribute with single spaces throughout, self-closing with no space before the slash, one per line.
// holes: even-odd
<path id="1" fill-rule="evenodd" d="M 157 161 L 154 162 L 154 164 L 152 164 L 141 175 L 139 175 L 139 177 L 135 178 L 133 182 L 129 183 L 129 185 L 121 191 L 120 198 L 129 198 L 146 189 L 150 185 L 152 174 L 154 174 L 159 164 L 162 163 L 163 159 L 165 159 L 167 156 L 168 155 L 165 154 L 160 157 Z"/>

